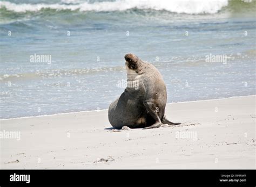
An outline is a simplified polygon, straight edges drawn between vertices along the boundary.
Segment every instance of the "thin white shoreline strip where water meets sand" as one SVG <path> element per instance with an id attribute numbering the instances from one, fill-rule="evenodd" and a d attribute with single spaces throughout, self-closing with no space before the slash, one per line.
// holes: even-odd
<path id="1" fill-rule="evenodd" d="M 226 97 L 226 98 L 219 98 L 219 99 L 206 99 L 206 100 L 190 100 L 186 102 L 172 102 L 172 103 L 166 103 L 167 105 L 170 104 L 176 104 L 176 103 L 192 103 L 192 102 L 204 102 L 204 101 L 211 101 L 211 100 L 221 100 L 221 99 L 230 99 L 230 98 L 239 98 L 239 97 L 250 97 L 250 96 L 256 96 L 256 95 L 248 95 L 248 96 L 232 96 L 232 97 Z M 100 111 L 107 111 L 109 109 L 102 109 L 102 110 L 88 110 L 88 111 L 79 111 L 79 112 L 66 112 L 66 113 L 54 113 L 54 114 L 45 114 L 45 115 L 39 115 L 39 116 L 24 116 L 24 117 L 17 117 L 17 118 L 3 118 L 0 119 L 0 121 L 4 120 L 13 120 L 13 119 L 25 119 L 25 118 L 37 118 L 37 117 L 45 117 L 45 116 L 57 116 L 57 115 L 63 115 L 63 114 L 76 114 L 76 113 L 85 113 L 85 112 L 100 112 Z"/>

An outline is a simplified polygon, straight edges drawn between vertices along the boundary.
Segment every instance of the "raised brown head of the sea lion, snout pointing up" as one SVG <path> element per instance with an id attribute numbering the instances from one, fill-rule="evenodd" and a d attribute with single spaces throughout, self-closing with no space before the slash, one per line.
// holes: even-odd
<path id="1" fill-rule="evenodd" d="M 140 67 L 142 67 L 142 60 L 140 60 L 138 56 L 132 53 L 126 54 L 124 58 L 126 69 L 139 73 Z"/>

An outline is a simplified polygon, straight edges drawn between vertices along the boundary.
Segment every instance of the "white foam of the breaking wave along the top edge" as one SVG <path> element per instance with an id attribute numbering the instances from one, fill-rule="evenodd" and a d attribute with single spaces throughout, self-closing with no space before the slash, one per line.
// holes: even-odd
<path id="1" fill-rule="evenodd" d="M 63 1 L 62 1 L 63 2 Z M 116 0 L 105 2 L 80 2 L 69 4 L 16 4 L 0 1 L 0 6 L 15 12 L 40 11 L 42 9 L 53 10 L 79 10 L 79 11 L 124 11 L 128 9 L 152 9 L 166 10 L 175 13 L 200 14 L 217 13 L 224 6 L 228 5 L 228 0 Z"/>

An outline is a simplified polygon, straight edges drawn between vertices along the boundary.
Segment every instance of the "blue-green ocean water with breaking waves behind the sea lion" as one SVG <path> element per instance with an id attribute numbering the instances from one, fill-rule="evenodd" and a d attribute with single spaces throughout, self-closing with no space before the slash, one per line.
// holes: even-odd
<path id="1" fill-rule="evenodd" d="M 159 69 L 168 103 L 255 95 L 255 12 L 241 0 L 0 1 L 0 118 L 107 109 L 126 53 Z"/>

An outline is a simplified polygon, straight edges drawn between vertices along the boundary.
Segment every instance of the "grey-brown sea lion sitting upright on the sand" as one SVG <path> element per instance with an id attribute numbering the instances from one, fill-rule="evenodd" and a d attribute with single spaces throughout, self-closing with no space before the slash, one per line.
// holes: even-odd
<path id="1" fill-rule="evenodd" d="M 179 125 L 165 117 L 166 86 L 152 64 L 134 54 L 126 54 L 127 87 L 109 106 L 109 122 L 114 128 L 158 128 L 161 124 Z"/>

